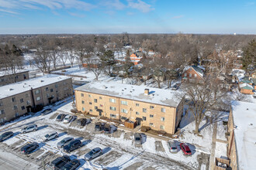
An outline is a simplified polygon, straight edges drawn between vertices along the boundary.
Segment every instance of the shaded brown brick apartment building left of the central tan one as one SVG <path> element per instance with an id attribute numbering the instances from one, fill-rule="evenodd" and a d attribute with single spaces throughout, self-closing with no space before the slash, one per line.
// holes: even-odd
<path id="1" fill-rule="evenodd" d="M 71 96 L 68 76 L 47 75 L 0 87 L 0 123 Z"/>

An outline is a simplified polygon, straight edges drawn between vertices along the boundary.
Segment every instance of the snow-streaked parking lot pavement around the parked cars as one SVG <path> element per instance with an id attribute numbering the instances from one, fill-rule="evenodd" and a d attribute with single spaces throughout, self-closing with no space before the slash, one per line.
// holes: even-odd
<path id="1" fill-rule="evenodd" d="M 85 127 L 78 126 L 76 121 L 66 124 L 63 121 L 56 121 L 60 113 L 61 111 L 57 110 L 47 115 L 37 114 L 10 126 L 5 131 L 13 131 L 15 135 L 0 143 L 1 148 L 25 160 L 24 162 L 29 162 L 30 165 L 27 164 L 26 169 L 29 169 L 29 166 L 43 169 L 43 165 L 50 169 L 50 162 L 62 155 L 69 155 L 71 159 L 78 158 L 81 162 L 78 169 L 198 169 L 199 162 L 193 162 L 197 158 L 200 158 L 201 164 L 208 164 L 207 158 L 201 160 L 203 156 L 199 152 L 194 151 L 188 158 L 185 158 L 181 151 L 175 155 L 171 154 L 166 141 L 146 136 L 144 143 L 137 146 L 134 145 L 133 133 L 130 131 L 118 129 L 112 134 L 95 131 L 97 118 L 92 117 L 92 122 Z M 28 124 L 37 124 L 38 130 L 21 134 L 21 128 Z M 57 131 L 59 137 L 45 142 L 43 136 L 49 131 Z M 62 148 L 57 148 L 57 142 L 67 137 L 80 139 L 81 148 L 71 153 L 65 153 Z M 40 147 L 29 155 L 23 155 L 20 152 L 22 146 L 33 141 L 38 142 Z M 96 147 L 102 148 L 103 155 L 92 161 L 85 161 L 85 154 Z M 0 156 L 4 158 L 4 155 Z M 178 158 L 181 158 L 181 161 L 178 161 Z"/>

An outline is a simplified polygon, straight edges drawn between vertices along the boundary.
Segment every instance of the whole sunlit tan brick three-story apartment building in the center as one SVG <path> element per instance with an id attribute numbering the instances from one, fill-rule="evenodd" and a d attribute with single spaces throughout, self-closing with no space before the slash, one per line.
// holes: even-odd
<path id="1" fill-rule="evenodd" d="M 92 82 L 74 90 L 81 112 L 119 121 L 137 121 L 157 131 L 175 134 L 183 112 L 178 91 L 107 82 Z"/>

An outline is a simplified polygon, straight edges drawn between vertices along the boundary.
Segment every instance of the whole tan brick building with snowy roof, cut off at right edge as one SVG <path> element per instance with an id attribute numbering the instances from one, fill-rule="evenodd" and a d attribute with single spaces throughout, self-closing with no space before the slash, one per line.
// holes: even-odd
<path id="1" fill-rule="evenodd" d="M 227 156 L 234 170 L 256 169 L 256 104 L 234 101 L 228 121 Z"/>

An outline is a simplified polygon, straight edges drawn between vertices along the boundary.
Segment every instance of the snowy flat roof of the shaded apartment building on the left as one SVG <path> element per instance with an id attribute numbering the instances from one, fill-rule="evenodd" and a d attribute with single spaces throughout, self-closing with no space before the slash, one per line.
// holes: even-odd
<path id="1" fill-rule="evenodd" d="M 51 83 L 57 83 L 62 80 L 71 79 L 70 76 L 59 76 L 56 74 L 48 74 L 46 76 L 36 77 L 34 79 L 20 81 L 18 83 L 11 83 L 0 87 L 0 99 L 10 97 L 18 93 L 23 93 L 28 90 L 47 86 Z"/>

